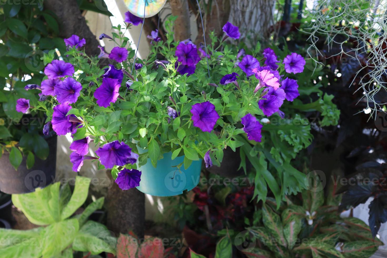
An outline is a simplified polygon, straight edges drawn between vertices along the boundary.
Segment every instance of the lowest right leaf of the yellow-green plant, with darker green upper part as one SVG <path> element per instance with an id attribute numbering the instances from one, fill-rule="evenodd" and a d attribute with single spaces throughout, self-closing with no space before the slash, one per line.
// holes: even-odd
<path id="1" fill-rule="evenodd" d="M 116 238 L 110 235 L 106 226 L 92 220 L 80 228 L 72 243 L 75 251 L 90 252 L 92 255 L 102 252 L 115 254 L 115 246 Z"/>

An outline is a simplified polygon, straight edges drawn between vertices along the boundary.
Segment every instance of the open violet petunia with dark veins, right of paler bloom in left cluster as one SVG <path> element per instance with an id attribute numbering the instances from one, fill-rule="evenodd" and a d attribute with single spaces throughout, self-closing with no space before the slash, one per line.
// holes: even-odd
<path id="1" fill-rule="evenodd" d="M 72 104 L 77 102 L 81 90 L 82 84 L 71 77 L 62 80 L 54 87 L 54 93 L 57 95 L 59 103 Z"/>

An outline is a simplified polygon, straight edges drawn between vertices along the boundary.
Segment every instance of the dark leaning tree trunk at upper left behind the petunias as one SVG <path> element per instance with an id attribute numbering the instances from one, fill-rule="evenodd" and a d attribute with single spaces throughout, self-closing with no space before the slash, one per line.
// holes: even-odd
<path id="1" fill-rule="evenodd" d="M 87 26 L 76 0 L 45 0 L 44 7 L 57 15 L 61 37 L 69 38 L 72 34 L 75 34 L 80 38 L 85 38 L 86 54 L 93 56 L 100 53 L 98 40 Z"/>

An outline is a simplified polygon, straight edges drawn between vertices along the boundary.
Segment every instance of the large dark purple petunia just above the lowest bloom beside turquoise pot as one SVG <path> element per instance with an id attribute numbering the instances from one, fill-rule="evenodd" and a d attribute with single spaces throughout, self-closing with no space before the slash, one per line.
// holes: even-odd
<path id="1" fill-rule="evenodd" d="M 99 161 L 106 168 L 125 166 L 131 157 L 131 148 L 123 142 L 109 142 L 96 150 Z"/>

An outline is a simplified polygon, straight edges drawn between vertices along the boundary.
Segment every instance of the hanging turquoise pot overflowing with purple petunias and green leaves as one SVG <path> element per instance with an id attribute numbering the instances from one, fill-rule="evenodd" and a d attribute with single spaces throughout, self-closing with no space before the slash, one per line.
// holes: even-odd
<path id="1" fill-rule="evenodd" d="M 132 16 L 127 14 L 130 24 L 142 22 Z M 279 66 L 271 49 L 264 58 L 245 53 L 235 47 L 240 34 L 229 22 L 223 27 L 226 36 L 211 35 L 216 48 L 212 44 L 206 51 L 189 39 L 173 42 L 174 19 L 166 21 L 167 42 L 157 31 L 149 36 L 152 53 L 146 60 L 133 60 L 121 27 L 112 37 L 101 35 L 118 44 L 110 54 L 101 48 L 99 55 L 115 65 L 101 69 L 99 57 L 85 55 L 84 40 L 75 35 L 65 40 L 63 61 L 45 56 L 50 63 L 41 91 L 47 100 L 28 105 L 22 100 L 19 110 L 48 110 L 48 125 L 58 135 L 71 133 L 74 171 L 96 162 L 111 169 L 122 190 L 180 194 L 199 182 L 202 160 L 209 167 L 222 161 L 226 147 L 235 151 L 246 141 L 261 142 L 259 120 L 282 116 L 283 102 L 299 95 L 296 81 L 280 72 L 302 72 L 300 55 L 289 55 Z M 98 147 L 95 154 L 90 145 Z"/>

